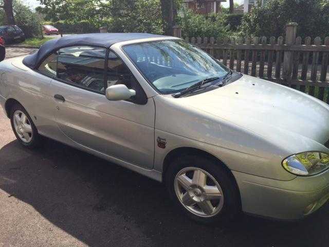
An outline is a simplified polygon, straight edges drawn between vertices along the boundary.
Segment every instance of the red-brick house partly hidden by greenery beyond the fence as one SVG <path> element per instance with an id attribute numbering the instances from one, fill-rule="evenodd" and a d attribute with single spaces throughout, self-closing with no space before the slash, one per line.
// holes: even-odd
<path id="1" fill-rule="evenodd" d="M 195 0 L 184 0 L 186 8 L 193 9 L 198 14 L 221 12 L 222 2 L 226 2 L 226 0 L 204 0 L 202 3 L 198 3 Z"/>

